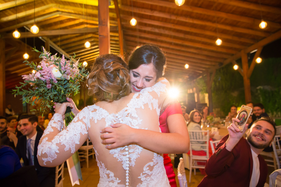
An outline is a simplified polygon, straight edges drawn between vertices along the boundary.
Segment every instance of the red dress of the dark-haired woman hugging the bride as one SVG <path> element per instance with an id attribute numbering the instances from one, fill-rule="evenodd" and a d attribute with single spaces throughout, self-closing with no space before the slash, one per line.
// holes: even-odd
<path id="1" fill-rule="evenodd" d="M 172 114 L 181 114 L 181 106 L 179 102 L 171 102 L 168 103 L 161 111 L 160 111 L 160 116 L 159 116 L 159 124 L 160 124 L 160 129 L 161 132 L 163 133 L 169 133 L 169 128 L 167 124 L 167 117 L 172 115 Z M 164 166 L 166 170 L 167 177 L 169 179 L 171 187 L 176 187 L 176 181 L 175 181 L 175 173 L 173 170 L 173 165 L 171 162 L 170 157 L 168 154 L 164 154 Z"/>

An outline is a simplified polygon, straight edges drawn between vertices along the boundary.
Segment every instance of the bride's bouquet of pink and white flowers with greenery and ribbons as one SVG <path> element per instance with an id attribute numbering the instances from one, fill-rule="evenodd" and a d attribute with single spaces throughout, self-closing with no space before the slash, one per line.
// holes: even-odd
<path id="1" fill-rule="evenodd" d="M 88 76 L 88 72 L 82 64 L 79 63 L 79 60 L 74 59 L 75 54 L 74 56 L 70 56 L 70 60 L 66 60 L 64 55 L 62 55 L 62 58 L 59 58 L 56 56 L 57 54 L 51 55 L 51 53 L 47 52 L 44 47 L 42 48 L 43 52 L 41 52 L 39 56 L 42 60 L 38 65 L 37 63 L 28 62 L 27 60 L 23 62 L 27 62 L 26 65 L 29 65 L 33 70 L 31 74 L 22 75 L 24 83 L 20 83 L 20 86 L 16 86 L 13 93 L 15 95 L 24 96 L 25 100 L 23 100 L 23 103 L 32 103 L 32 105 L 36 105 L 36 102 L 40 101 L 40 112 L 44 113 L 46 108 L 52 107 L 53 101 L 64 103 L 67 102 L 67 97 L 76 95 L 80 89 L 79 84 Z M 36 49 L 34 50 L 39 52 Z M 34 110 L 36 111 L 37 109 L 32 109 L 31 111 Z M 74 117 L 75 115 L 71 112 L 71 108 L 68 107 L 65 113 L 66 127 Z M 74 153 L 74 155 L 72 155 L 72 160 L 68 159 L 67 161 L 70 174 L 72 172 L 72 175 L 75 175 L 82 180 L 78 153 Z M 72 164 L 69 165 L 69 162 Z M 71 168 L 74 167 L 77 175 L 71 170 Z M 72 180 L 71 177 L 71 182 Z M 79 180 L 76 184 L 79 184 Z M 72 185 L 74 184 L 72 183 Z"/>

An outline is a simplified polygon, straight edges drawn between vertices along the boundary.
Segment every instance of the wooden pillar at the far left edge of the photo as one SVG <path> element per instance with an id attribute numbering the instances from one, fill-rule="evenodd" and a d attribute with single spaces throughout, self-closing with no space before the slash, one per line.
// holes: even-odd
<path id="1" fill-rule="evenodd" d="M 0 38 L 0 115 L 5 116 L 5 40 Z"/>

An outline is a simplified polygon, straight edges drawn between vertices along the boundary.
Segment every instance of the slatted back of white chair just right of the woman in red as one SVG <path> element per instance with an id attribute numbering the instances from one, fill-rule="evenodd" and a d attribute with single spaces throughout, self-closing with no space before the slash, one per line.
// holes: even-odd
<path id="1" fill-rule="evenodd" d="M 209 158 L 209 130 L 207 131 L 189 131 L 190 138 L 190 156 L 192 156 L 192 146 L 201 146 Z"/>

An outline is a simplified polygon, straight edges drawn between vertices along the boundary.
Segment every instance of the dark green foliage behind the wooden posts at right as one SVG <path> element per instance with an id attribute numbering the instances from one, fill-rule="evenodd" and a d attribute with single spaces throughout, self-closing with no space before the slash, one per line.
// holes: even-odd
<path id="1" fill-rule="evenodd" d="M 241 60 L 237 63 L 242 67 Z M 256 64 L 250 82 L 252 102 L 263 103 L 267 113 L 280 117 L 281 58 L 263 59 L 262 63 Z M 196 84 L 201 93 L 207 93 L 204 77 L 197 79 Z M 212 93 L 214 108 L 220 108 L 225 115 L 231 105 L 245 104 L 243 77 L 233 70 L 231 63 L 216 71 Z"/>

